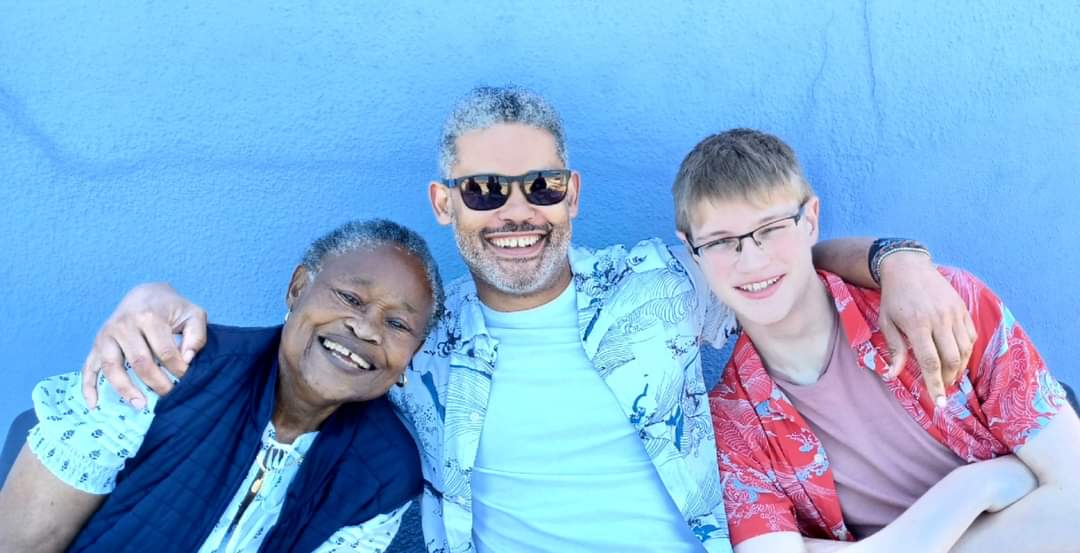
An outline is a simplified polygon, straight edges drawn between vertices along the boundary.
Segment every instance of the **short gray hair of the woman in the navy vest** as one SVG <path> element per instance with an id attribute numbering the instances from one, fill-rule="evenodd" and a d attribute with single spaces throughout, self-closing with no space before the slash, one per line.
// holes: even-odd
<path id="1" fill-rule="evenodd" d="M 438 265 L 416 231 L 388 219 L 353 220 L 323 234 L 308 246 L 300 259 L 300 265 L 308 269 L 308 278 L 315 279 L 323 269 L 323 259 L 328 255 L 341 255 L 357 249 L 370 249 L 383 245 L 392 245 L 416 256 L 423 264 L 431 287 L 432 305 L 424 328 L 427 335 L 435 321 L 443 316 L 443 302 L 446 294 L 443 292 L 443 278 L 438 274 Z"/>

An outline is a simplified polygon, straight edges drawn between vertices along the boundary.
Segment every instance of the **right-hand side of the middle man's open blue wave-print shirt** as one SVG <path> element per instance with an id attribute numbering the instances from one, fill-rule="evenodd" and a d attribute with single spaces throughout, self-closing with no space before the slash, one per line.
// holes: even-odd
<path id="1" fill-rule="evenodd" d="M 571 259 L 586 353 L 638 429 L 691 530 L 710 551 L 730 551 L 699 352 L 712 306 L 658 240 L 582 253 Z M 714 307 L 719 315 L 725 309 Z"/>

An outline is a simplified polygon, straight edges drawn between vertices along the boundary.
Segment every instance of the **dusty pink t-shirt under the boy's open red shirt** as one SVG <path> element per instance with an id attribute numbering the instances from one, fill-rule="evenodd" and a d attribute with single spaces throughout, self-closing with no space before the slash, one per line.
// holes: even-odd
<path id="1" fill-rule="evenodd" d="M 843 522 L 863 539 L 964 462 L 904 410 L 880 377 L 859 366 L 842 329 L 833 342 L 816 382 L 774 381 L 821 440 Z"/>

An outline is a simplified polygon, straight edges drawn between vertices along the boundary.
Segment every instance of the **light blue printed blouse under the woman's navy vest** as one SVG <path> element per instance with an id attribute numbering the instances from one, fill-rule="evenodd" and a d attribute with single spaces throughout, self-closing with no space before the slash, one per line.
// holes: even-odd
<path id="1" fill-rule="evenodd" d="M 79 373 L 41 381 L 35 387 L 32 394 L 39 423 L 30 430 L 27 439 L 30 450 L 50 472 L 76 489 L 94 495 L 112 493 L 117 474 L 123 470 L 126 459 L 133 457 L 143 444 L 160 400 L 141 380 L 132 380 L 147 399 L 147 406 L 140 412 L 133 409 L 120 397 L 104 377 L 98 378 L 98 407 L 93 410 L 86 408 L 82 397 Z M 311 448 L 316 435 L 318 432 L 310 432 L 293 442 L 292 448 L 298 457 L 302 458 Z M 279 443 L 275 437 L 271 422 L 262 433 L 262 449 L 289 447 Z M 298 470 L 299 463 L 292 462 L 285 463 L 280 470 L 268 472 L 251 504 L 237 520 L 240 505 L 259 473 L 258 462 L 253 462 L 240 489 L 199 550 L 200 553 L 258 551 L 262 539 L 278 521 L 288 485 Z M 382 552 L 397 532 L 407 508 L 406 503 L 364 524 L 340 528 L 315 552 Z M 230 530 L 233 525 L 235 527 Z"/>

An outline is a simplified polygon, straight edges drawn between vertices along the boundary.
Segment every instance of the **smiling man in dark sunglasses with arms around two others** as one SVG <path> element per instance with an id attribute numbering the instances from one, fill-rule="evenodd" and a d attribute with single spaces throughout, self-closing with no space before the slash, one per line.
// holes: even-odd
<path id="1" fill-rule="evenodd" d="M 391 392 L 421 450 L 428 549 L 729 552 L 699 345 L 734 333 L 730 311 L 681 247 L 571 244 L 581 178 L 557 112 L 537 94 L 472 91 L 444 126 L 440 162 L 431 207 L 471 278 L 448 286 L 446 316 Z M 819 253 L 873 284 L 868 246 Z M 974 336 L 929 257 L 896 253 L 882 270 L 882 324 L 903 329 L 928 365 L 939 352 L 961 362 Z M 87 382 L 102 367 L 137 399 L 118 370 L 124 352 L 167 391 L 151 350 L 183 373 L 203 316 L 165 285 L 138 288 L 98 335 Z"/>

